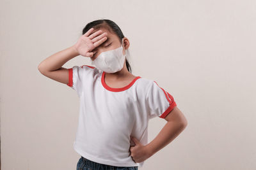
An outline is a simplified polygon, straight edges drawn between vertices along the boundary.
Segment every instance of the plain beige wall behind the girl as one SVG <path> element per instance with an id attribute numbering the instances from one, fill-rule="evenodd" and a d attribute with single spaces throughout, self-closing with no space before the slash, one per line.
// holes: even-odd
<path id="1" fill-rule="evenodd" d="M 76 92 L 37 69 L 108 18 L 188 119 L 141 169 L 256 169 L 255 1 L 0 1 L 2 170 L 76 169 Z M 83 56 L 63 67 L 90 64 Z M 165 120 L 150 120 L 152 140 Z"/>

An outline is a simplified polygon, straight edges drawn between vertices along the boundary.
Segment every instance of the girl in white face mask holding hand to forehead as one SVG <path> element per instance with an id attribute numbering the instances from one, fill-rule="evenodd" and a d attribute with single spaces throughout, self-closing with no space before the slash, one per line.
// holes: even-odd
<path id="1" fill-rule="evenodd" d="M 173 97 L 154 80 L 134 76 L 127 60 L 129 39 L 111 20 L 95 20 L 77 43 L 42 61 L 45 76 L 76 90 L 80 100 L 74 150 L 77 170 L 138 169 L 187 125 Z M 61 67 L 82 55 L 92 65 Z M 148 120 L 167 123 L 148 143 Z"/>

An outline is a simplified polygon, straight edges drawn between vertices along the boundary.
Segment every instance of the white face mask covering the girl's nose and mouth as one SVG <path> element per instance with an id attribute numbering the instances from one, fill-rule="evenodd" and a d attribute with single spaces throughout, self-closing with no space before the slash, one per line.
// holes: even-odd
<path id="1" fill-rule="evenodd" d="M 120 47 L 100 53 L 95 60 L 91 59 L 92 64 L 106 73 L 120 71 L 124 67 L 125 60 L 125 55 L 123 54 L 123 39 L 124 38 L 122 38 L 122 45 Z"/>

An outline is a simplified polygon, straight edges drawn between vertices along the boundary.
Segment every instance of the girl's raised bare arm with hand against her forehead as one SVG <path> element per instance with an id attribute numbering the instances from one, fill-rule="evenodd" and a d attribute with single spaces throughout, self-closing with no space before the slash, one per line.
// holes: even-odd
<path id="1" fill-rule="evenodd" d="M 54 53 L 50 57 L 40 62 L 38 70 L 52 80 L 61 83 L 68 83 L 68 69 L 62 67 L 68 60 L 73 59 L 77 55 L 84 57 L 93 57 L 92 50 L 106 41 L 107 32 L 102 30 L 93 32 L 93 28 L 89 29 L 81 36 L 75 45 L 72 45 L 65 50 Z M 102 33 L 103 32 L 103 33 Z M 92 34 L 91 34 L 92 33 Z"/>

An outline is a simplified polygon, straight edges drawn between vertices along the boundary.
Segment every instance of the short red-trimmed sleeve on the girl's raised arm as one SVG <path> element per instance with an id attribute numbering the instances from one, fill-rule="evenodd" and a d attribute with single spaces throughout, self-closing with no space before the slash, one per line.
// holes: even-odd
<path id="1" fill-rule="evenodd" d="M 67 85 L 72 89 L 76 90 L 77 95 L 80 96 L 83 92 L 83 82 L 86 74 L 90 73 L 92 69 L 95 67 L 93 66 L 73 66 L 68 68 L 68 83 Z"/>

